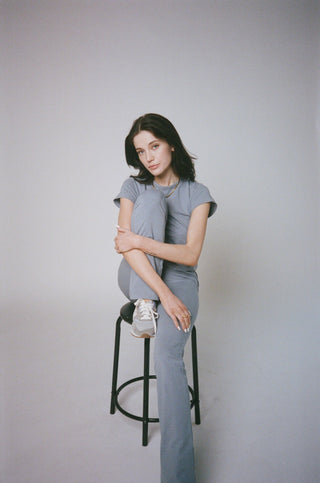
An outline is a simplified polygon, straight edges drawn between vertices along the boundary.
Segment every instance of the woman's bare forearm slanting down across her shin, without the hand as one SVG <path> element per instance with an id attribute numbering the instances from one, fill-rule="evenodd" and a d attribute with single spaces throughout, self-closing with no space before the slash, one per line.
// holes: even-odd
<path id="1" fill-rule="evenodd" d="M 169 288 L 154 270 L 147 256 L 141 250 L 130 250 L 123 253 L 123 257 L 160 299 L 168 295 L 170 292 Z"/>

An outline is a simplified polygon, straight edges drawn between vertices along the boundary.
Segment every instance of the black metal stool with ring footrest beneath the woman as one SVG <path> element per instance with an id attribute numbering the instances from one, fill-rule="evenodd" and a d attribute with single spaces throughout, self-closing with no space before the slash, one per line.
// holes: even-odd
<path id="1" fill-rule="evenodd" d="M 142 445 L 148 444 L 148 423 L 158 423 L 158 418 L 149 418 L 149 380 L 156 379 L 155 375 L 150 375 L 150 338 L 144 339 L 144 371 L 143 376 L 135 377 L 124 382 L 120 387 L 117 387 L 118 381 L 118 367 L 119 367 L 119 351 L 120 351 L 120 332 L 121 322 L 124 320 L 129 324 L 132 324 L 132 315 L 134 311 L 134 304 L 128 302 L 120 310 L 120 316 L 116 322 L 116 334 L 114 344 L 114 357 L 113 357 L 113 375 L 112 375 L 112 391 L 111 391 L 111 405 L 110 413 L 115 413 L 115 408 L 118 408 L 125 416 L 136 421 L 142 422 Z M 200 401 L 199 401 L 199 380 L 198 380 L 198 356 L 197 356 L 197 333 L 196 328 L 193 326 L 191 331 L 191 345 L 192 345 L 192 369 L 193 369 L 193 388 L 189 387 L 191 394 L 190 407 L 195 409 L 195 423 L 200 424 Z M 143 414 L 137 416 L 136 414 L 129 413 L 123 407 L 120 406 L 118 397 L 122 389 L 129 384 L 137 381 L 143 381 Z"/>

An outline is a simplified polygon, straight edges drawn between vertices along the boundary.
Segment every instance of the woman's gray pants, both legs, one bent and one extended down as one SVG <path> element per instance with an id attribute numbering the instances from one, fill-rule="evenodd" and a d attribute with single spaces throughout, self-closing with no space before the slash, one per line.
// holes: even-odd
<path id="1" fill-rule="evenodd" d="M 138 196 L 131 218 L 133 232 L 165 239 L 167 206 L 163 194 L 146 190 Z M 170 290 L 182 300 L 192 314 L 193 325 L 198 312 L 198 280 L 188 267 L 169 264 L 148 256 L 152 266 Z M 159 300 L 123 259 L 118 274 L 119 286 L 129 300 Z M 157 375 L 158 410 L 161 430 L 161 483 L 194 483 L 194 454 L 188 381 L 183 354 L 189 334 L 178 331 L 159 303 L 154 364 Z"/>

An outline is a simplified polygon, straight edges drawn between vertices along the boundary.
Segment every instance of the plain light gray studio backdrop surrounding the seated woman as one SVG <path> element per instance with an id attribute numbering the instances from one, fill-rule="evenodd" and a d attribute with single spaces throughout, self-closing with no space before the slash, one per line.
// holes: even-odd
<path id="1" fill-rule="evenodd" d="M 199 483 L 320 481 L 318 2 L 0 13 L 3 481 L 158 481 L 158 431 L 142 449 L 105 414 L 125 302 L 112 197 L 145 112 L 175 124 L 218 202 L 199 265 Z M 141 349 L 123 344 L 125 377 Z"/>

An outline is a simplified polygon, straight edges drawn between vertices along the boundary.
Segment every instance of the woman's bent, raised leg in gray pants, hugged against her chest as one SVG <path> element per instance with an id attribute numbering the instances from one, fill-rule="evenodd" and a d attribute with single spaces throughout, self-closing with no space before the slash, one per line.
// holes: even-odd
<path id="1" fill-rule="evenodd" d="M 164 195 L 157 190 L 146 190 L 138 196 L 133 207 L 131 230 L 138 235 L 164 241 L 167 205 Z M 163 260 L 147 255 L 155 271 L 161 276 Z M 123 258 L 118 271 L 119 287 L 129 300 L 159 300 L 158 295 L 136 274 Z"/>

